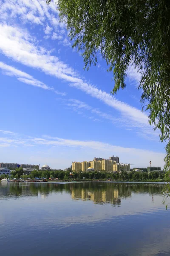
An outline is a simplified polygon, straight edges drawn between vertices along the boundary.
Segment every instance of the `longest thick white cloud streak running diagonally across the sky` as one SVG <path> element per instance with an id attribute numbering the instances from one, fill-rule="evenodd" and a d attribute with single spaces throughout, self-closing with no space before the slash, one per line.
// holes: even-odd
<path id="1" fill-rule="evenodd" d="M 146 114 L 125 102 L 119 101 L 115 96 L 111 96 L 109 93 L 99 90 L 97 87 L 83 81 L 77 72 L 67 64 L 59 61 L 57 57 L 48 54 L 46 49 L 36 47 L 32 44 L 27 32 L 25 33 L 25 31 L 19 31 L 15 27 L 1 24 L 0 37 L 1 52 L 14 61 L 19 61 L 24 65 L 37 68 L 48 75 L 67 81 L 70 83 L 70 86 L 76 87 L 120 111 L 131 122 L 147 125 L 148 118 Z M 13 47 L 10 47 L 11 45 Z"/>

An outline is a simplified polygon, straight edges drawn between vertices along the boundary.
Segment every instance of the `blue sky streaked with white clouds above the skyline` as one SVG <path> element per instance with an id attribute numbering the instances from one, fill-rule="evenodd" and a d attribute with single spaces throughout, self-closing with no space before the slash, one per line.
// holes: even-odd
<path id="1" fill-rule="evenodd" d="M 141 111 L 140 74 L 111 95 L 113 74 L 98 56 L 86 71 L 59 12 L 45 0 L 0 2 L 0 162 L 64 169 L 118 155 L 130 167 L 164 166 L 159 131 Z"/>

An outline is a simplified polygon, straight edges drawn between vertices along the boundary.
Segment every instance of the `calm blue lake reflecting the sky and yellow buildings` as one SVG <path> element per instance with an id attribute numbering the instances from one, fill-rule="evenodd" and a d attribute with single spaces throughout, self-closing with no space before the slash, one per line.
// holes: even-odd
<path id="1" fill-rule="evenodd" d="M 163 184 L 0 183 L 2 256 L 170 255 Z"/>

